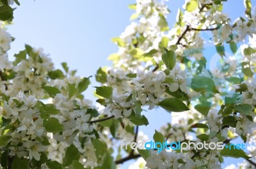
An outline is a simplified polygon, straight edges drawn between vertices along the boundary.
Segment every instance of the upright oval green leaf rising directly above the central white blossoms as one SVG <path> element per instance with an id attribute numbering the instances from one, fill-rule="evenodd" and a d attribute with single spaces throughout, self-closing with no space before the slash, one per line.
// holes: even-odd
<path id="1" fill-rule="evenodd" d="M 175 63 L 176 63 L 175 52 L 173 52 L 172 50 L 167 50 L 166 48 L 164 48 L 164 53 L 162 55 L 162 60 L 165 64 L 166 68 L 168 68 L 168 70 L 172 70 L 175 66 Z"/>

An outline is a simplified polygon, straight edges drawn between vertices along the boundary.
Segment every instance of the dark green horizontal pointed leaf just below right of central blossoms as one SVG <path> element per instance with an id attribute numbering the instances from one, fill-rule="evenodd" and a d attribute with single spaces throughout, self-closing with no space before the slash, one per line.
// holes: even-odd
<path id="1" fill-rule="evenodd" d="M 182 101 L 176 98 L 166 98 L 158 103 L 158 105 L 170 112 L 184 112 L 189 110 L 189 108 Z"/>

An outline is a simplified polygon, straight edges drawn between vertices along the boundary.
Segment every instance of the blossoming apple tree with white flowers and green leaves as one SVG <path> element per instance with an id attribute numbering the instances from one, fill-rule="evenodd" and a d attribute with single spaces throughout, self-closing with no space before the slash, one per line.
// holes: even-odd
<path id="1" fill-rule="evenodd" d="M 25 45 L 8 59 L 14 38 L 5 25 L 13 3 L 19 5 L 1 0 L 0 6 L 1 168 L 120 168 L 138 158 L 133 168 L 221 168 L 226 156 L 243 158 L 241 168 L 256 168 L 256 16 L 250 0 L 234 22 L 222 12 L 225 0 L 186 0 L 173 27 L 164 2 L 131 4 L 133 21 L 112 39 L 118 45 L 109 56 L 113 66 L 95 73 L 101 84 L 96 105 L 83 95 L 93 77 L 77 77 L 66 62 L 63 70 L 54 69 L 41 48 Z M 204 31 L 211 38 L 202 38 Z M 205 43 L 215 46 L 218 68 L 208 68 Z M 141 112 L 156 107 L 170 112 L 172 121 L 157 129 L 155 142 L 229 145 L 240 137 L 247 150 L 124 151 L 120 140 L 145 140 L 139 126 L 147 126 L 147 112 Z"/>

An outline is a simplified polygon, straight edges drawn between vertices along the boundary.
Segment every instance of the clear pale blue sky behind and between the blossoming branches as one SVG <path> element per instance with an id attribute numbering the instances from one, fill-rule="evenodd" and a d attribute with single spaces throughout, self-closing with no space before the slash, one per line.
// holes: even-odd
<path id="1" fill-rule="evenodd" d="M 118 50 L 111 38 L 119 36 L 131 22 L 129 18 L 133 11 L 127 6 L 133 3 L 134 0 L 20 0 L 20 6 L 14 11 L 14 24 L 8 26 L 8 31 L 16 38 L 9 55 L 24 50 L 26 43 L 44 48 L 45 53 L 51 54 L 56 68 L 61 68 L 61 62 L 67 62 L 71 69 L 77 70 L 77 75 L 95 75 L 100 66 L 111 66 L 107 57 Z M 172 11 L 168 17 L 170 26 L 175 22 L 177 9 L 182 8 L 183 3 L 177 0 L 167 3 Z M 252 0 L 252 3 L 255 6 L 256 0 Z M 234 21 L 244 13 L 243 0 L 229 0 L 224 5 L 224 12 Z M 209 55 L 216 53 L 211 51 L 213 53 Z M 86 92 L 86 98 L 95 99 L 92 86 L 99 84 L 94 77 L 91 79 L 92 85 Z M 170 114 L 160 108 L 147 112 L 147 117 L 150 124 L 147 129 L 141 129 L 150 139 L 154 129 L 170 122 Z M 225 166 L 232 162 L 234 160 L 228 160 Z"/>

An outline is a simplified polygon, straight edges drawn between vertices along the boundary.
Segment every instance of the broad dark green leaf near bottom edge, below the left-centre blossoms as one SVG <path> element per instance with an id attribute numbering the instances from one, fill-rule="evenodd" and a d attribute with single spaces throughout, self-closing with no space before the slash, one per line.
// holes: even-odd
<path id="1" fill-rule="evenodd" d="M 63 158 L 63 166 L 70 166 L 73 160 L 78 161 L 80 158 L 80 152 L 75 145 L 70 145 L 65 151 L 65 157 Z"/>

